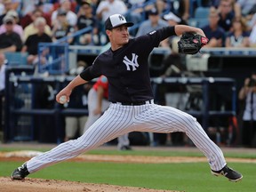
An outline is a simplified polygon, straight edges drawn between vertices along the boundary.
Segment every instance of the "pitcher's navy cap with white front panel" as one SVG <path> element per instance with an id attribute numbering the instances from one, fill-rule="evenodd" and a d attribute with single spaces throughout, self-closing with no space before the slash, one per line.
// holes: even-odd
<path id="1" fill-rule="evenodd" d="M 134 24 L 132 22 L 127 22 L 123 15 L 114 14 L 108 17 L 108 20 L 105 21 L 105 29 L 111 30 L 112 28 L 117 28 L 121 25 L 127 27 L 132 27 Z"/>

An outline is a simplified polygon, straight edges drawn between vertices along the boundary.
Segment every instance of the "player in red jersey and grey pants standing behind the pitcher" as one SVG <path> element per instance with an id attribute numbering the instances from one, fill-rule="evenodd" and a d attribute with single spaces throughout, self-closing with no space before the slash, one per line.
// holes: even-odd
<path id="1" fill-rule="evenodd" d="M 108 79 L 106 76 L 100 76 L 92 89 L 88 93 L 88 120 L 84 126 L 84 132 L 108 109 Z M 131 150 L 128 133 L 117 138 L 117 148 L 119 150 Z"/>

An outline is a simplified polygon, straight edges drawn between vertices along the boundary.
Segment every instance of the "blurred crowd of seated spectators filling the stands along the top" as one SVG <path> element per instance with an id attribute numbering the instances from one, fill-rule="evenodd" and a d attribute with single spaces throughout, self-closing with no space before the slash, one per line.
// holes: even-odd
<path id="1" fill-rule="evenodd" d="M 28 52 L 36 60 L 39 42 L 54 42 L 79 29 L 69 44 L 105 45 L 104 21 L 121 13 L 132 20 L 132 36 L 152 29 L 188 24 L 198 7 L 207 10 L 202 27 L 210 39 L 207 47 L 250 47 L 256 44 L 254 0 L 0 0 L 0 52 Z M 170 47 L 172 39 L 161 46 Z"/>

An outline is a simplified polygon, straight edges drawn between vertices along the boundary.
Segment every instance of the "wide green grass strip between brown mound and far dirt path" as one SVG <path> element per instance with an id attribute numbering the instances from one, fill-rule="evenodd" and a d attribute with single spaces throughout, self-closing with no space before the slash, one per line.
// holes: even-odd
<path id="1" fill-rule="evenodd" d="M 22 162 L 0 162 L 0 176 L 9 176 Z M 30 174 L 31 178 L 108 183 L 119 186 L 172 189 L 186 192 L 254 192 L 255 164 L 229 164 L 244 179 L 233 183 L 210 173 L 208 164 L 117 164 L 63 162 Z"/>

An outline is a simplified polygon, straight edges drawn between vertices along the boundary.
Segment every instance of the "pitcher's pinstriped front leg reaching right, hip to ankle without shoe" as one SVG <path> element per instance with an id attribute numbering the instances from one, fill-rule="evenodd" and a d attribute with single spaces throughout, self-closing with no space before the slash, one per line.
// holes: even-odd
<path id="1" fill-rule="evenodd" d="M 143 132 L 185 132 L 204 156 L 208 158 L 212 170 L 220 170 L 225 164 L 225 158 L 220 148 L 208 137 L 196 118 L 177 108 L 150 105 L 141 108 L 138 120 L 142 122 Z"/>

